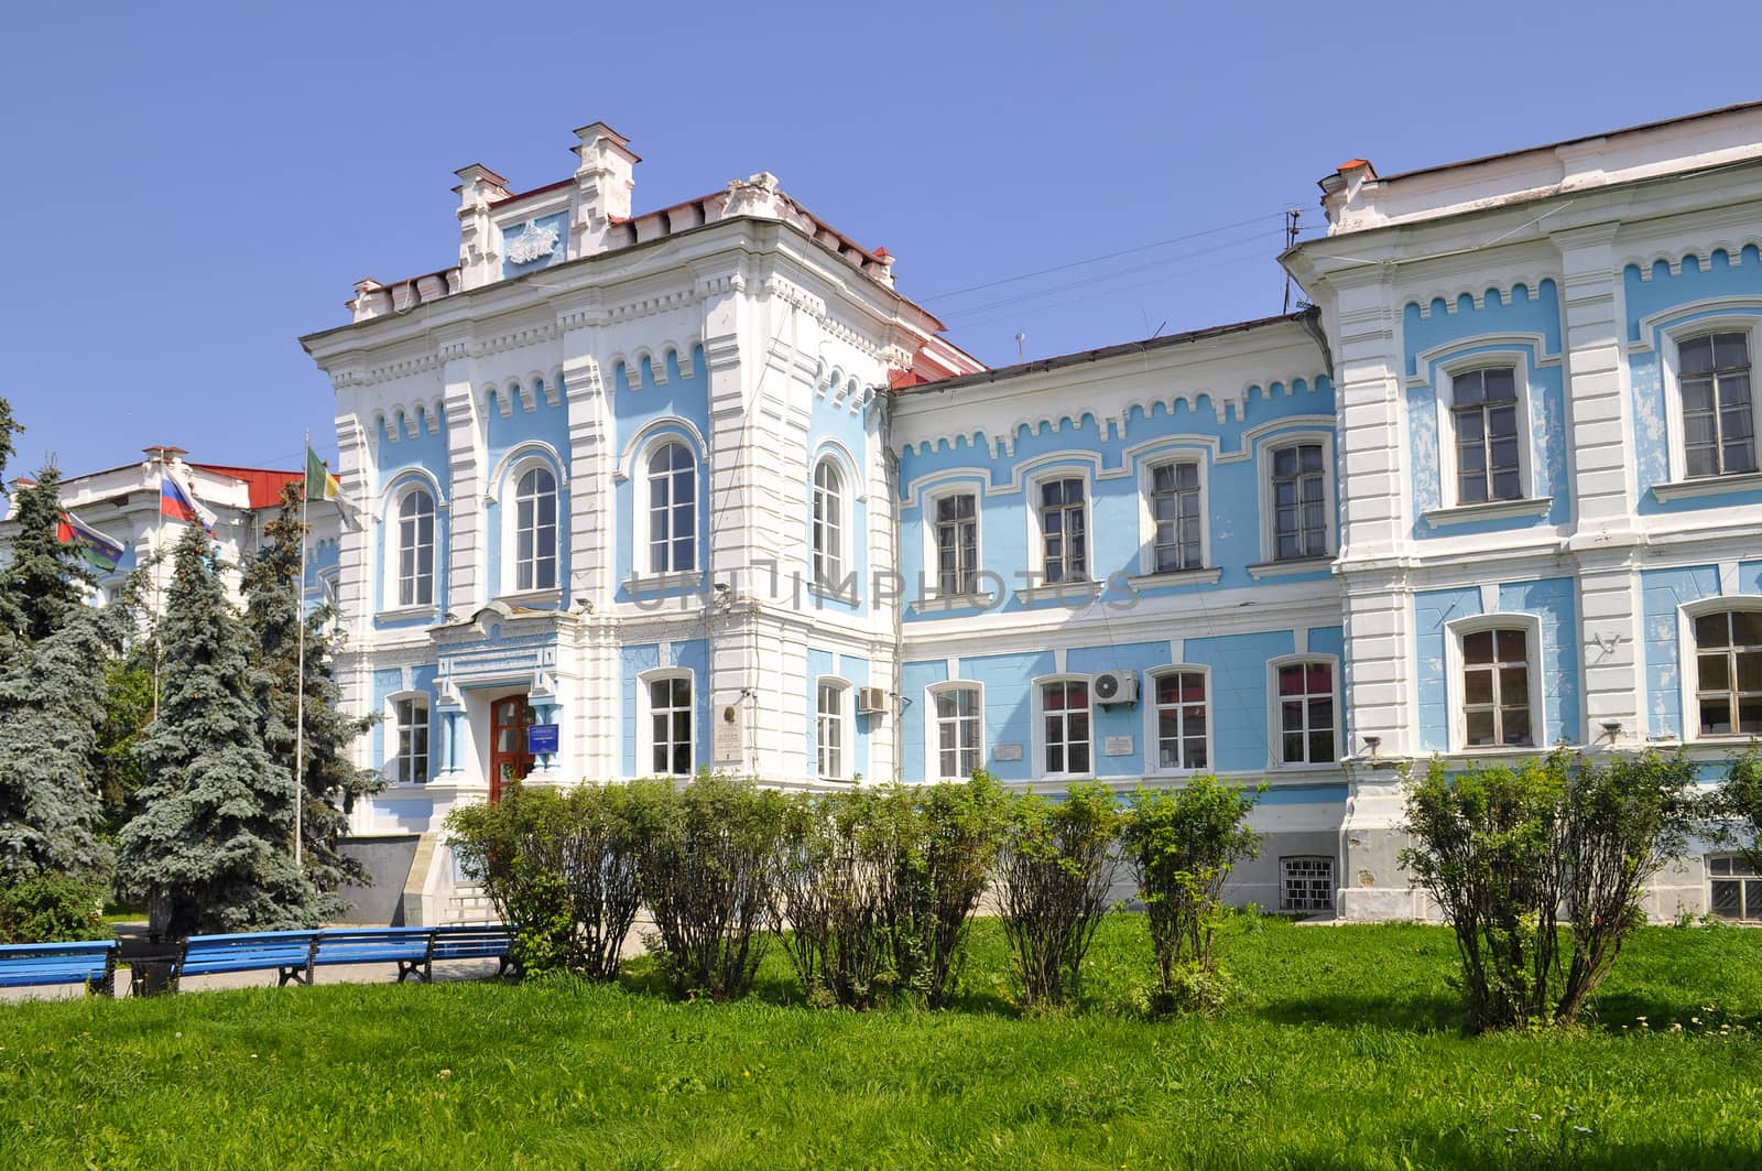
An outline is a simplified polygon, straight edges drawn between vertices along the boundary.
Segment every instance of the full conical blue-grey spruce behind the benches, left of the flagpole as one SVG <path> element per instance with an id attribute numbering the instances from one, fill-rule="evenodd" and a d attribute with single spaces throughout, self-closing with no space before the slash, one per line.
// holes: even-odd
<path id="1" fill-rule="evenodd" d="M 159 624 L 159 720 L 141 735 L 141 811 L 122 831 L 118 885 L 173 936 L 314 926 L 292 859 L 291 778 L 263 748 L 247 635 L 208 536 L 178 541 Z"/>

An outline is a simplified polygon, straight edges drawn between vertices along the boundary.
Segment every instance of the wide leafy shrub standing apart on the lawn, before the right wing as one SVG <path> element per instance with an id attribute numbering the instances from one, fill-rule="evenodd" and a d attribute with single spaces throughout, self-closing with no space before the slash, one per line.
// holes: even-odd
<path id="1" fill-rule="evenodd" d="M 1410 785 L 1401 861 L 1455 933 L 1470 1032 L 1579 1016 L 1684 848 L 1693 785 L 1683 753 L 1566 751 L 1457 776 L 1434 760 Z"/>

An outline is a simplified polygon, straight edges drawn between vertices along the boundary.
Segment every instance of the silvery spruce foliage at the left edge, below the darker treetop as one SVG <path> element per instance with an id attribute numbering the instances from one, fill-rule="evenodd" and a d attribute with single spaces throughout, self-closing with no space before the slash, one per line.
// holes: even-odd
<path id="1" fill-rule="evenodd" d="M 102 884 L 99 725 L 107 688 L 99 667 L 122 617 L 79 607 L 60 630 L 19 645 L 0 670 L 0 885 L 37 875 Z"/>

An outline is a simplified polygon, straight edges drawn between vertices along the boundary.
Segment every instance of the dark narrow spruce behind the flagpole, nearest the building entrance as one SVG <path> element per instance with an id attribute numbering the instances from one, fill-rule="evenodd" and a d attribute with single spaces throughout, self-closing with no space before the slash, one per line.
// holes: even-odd
<path id="1" fill-rule="evenodd" d="M 296 757 L 294 725 L 301 718 L 298 681 L 305 591 L 300 580 L 300 543 L 307 538 L 307 527 L 300 524 L 300 494 L 298 481 L 284 489 L 282 511 L 263 527 L 263 545 L 245 566 L 243 577 L 257 727 L 270 760 L 289 776 Z M 372 721 L 338 711 L 338 638 L 329 630 L 329 619 L 328 608 L 305 617 L 305 742 L 298 753 L 303 772 L 301 861 L 307 878 L 326 896 L 326 917 L 342 910 L 342 903 L 333 898 L 337 887 L 368 880 L 361 864 L 338 850 L 338 841 L 349 829 L 344 808 L 356 795 L 384 785 L 372 769 L 358 769 L 349 762 L 349 742 L 366 732 Z"/>

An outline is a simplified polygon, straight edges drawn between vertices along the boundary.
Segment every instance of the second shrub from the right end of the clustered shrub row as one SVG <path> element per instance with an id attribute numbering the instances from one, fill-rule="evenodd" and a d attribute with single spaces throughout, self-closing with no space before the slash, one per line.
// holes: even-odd
<path id="1" fill-rule="evenodd" d="M 997 857 L 997 912 L 1022 1003 L 1077 1000 L 1084 954 L 1119 869 L 1119 825 L 1107 785 L 1071 785 L 1059 802 L 1034 794 L 1015 801 Z"/>

